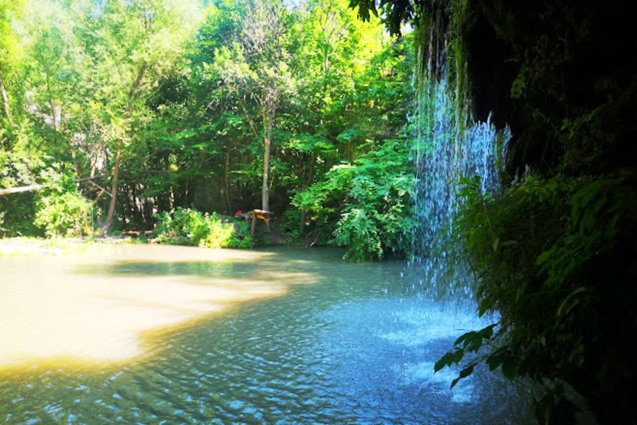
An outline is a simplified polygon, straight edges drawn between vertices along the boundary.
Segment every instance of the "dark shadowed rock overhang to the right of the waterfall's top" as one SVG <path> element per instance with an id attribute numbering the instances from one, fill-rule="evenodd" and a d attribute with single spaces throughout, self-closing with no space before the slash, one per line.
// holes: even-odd
<path id="1" fill-rule="evenodd" d="M 511 126 L 510 175 L 629 165 L 637 25 L 625 2 L 469 0 L 464 13 L 475 117 Z"/>

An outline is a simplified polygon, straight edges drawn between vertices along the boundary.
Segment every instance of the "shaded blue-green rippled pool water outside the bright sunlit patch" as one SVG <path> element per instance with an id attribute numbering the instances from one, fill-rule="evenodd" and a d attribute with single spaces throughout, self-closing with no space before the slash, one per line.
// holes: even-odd
<path id="1" fill-rule="evenodd" d="M 347 264 L 340 260 L 341 251 L 330 249 L 272 249 L 250 261 L 241 261 L 238 253 L 235 259 L 210 262 L 192 259 L 197 249 L 121 249 L 134 255 L 115 252 L 105 260 L 100 254 L 95 264 L 90 254 L 74 261 L 34 256 L 29 263 L 55 262 L 51 273 L 83 285 L 94 278 L 100 285 L 127 279 L 129 287 L 137 280 L 147 284 L 166 277 L 199 287 L 227 284 L 229 278 L 255 285 L 264 275 L 265 282 L 280 277 L 286 291 L 234 303 L 160 333 L 143 356 L 115 366 L 80 367 L 32 357 L 26 367 L 0 375 L 0 421 L 533 423 L 524 392 L 501 378 L 479 370 L 450 390 L 457 370 L 433 373 L 434 362 L 455 338 L 483 322 L 468 301 L 450 303 L 413 291 L 402 263 Z M 0 288 L 33 290 L 29 270 L 22 267 L 12 278 L 9 262 L 15 259 L 0 258 L 8 270 Z M 6 331 L 0 328 L 0 336 Z"/>

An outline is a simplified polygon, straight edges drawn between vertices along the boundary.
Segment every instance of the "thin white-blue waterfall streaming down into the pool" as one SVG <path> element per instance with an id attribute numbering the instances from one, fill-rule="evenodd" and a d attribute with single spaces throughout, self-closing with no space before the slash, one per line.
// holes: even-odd
<path id="1" fill-rule="evenodd" d="M 496 192 L 509 138 L 509 132 L 496 131 L 490 119 L 474 122 L 457 100 L 457 82 L 450 87 L 449 81 L 444 58 L 435 71 L 429 61 L 424 75 L 413 79 L 416 101 L 410 117 L 417 173 L 414 213 L 419 222 L 413 274 L 417 291 L 438 296 L 471 293 L 473 278 L 466 263 L 458 261 L 462 252 L 454 246 L 454 215 L 462 202 L 458 182 L 462 176 L 479 176 L 483 193 Z"/>

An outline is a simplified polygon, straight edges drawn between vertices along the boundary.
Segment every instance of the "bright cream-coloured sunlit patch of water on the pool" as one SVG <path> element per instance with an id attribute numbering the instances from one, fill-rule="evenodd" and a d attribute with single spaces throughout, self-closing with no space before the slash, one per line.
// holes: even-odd
<path id="1" fill-rule="evenodd" d="M 152 350 L 158 331 L 313 281 L 308 273 L 261 270 L 259 262 L 273 255 L 125 245 L 0 257 L 0 368 L 132 359 Z M 153 270 L 180 263 L 189 274 Z M 249 266 L 233 277 L 241 263 Z M 193 275 L 193 264 L 205 272 Z"/>

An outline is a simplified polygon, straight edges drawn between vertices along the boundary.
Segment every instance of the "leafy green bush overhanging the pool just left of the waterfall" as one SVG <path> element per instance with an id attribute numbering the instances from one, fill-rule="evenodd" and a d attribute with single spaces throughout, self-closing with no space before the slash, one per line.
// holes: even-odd
<path id="1" fill-rule="evenodd" d="M 413 176 L 402 141 L 386 140 L 354 165 L 335 166 L 322 182 L 299 192 L 292 203 L 311 212 L 318 227 L 334 226 L 334 243 L 345 259 L 372 261 L 404 256 L 414 223 L 410 217 Z"/>

